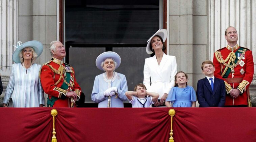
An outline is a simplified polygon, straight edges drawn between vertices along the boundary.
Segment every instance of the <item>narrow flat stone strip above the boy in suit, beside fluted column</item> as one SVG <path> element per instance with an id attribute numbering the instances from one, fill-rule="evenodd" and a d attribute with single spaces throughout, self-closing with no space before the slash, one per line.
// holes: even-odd
<path id="1" fill-rule="evenodd" d="M 207 58 L 207 1 L 193 0 L 193 87 L 197 89 L 198 80 L 205 78 L 201 64 Z"/>

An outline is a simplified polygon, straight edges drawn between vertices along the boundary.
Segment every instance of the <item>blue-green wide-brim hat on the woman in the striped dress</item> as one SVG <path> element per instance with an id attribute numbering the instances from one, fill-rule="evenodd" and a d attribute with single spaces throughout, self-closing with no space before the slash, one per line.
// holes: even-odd
<path id="1" fill-rule="evenodd" d="M 22 49 L 24 49 L 26 47 L 32 47 L 34 49 L 35 53 L 37 54 L 37 57 L 39 57 L 43 52 L 43 44 L 37 40 L 28 41 L 28 42 L 25 42 L 24 44 L 22 44 L 22 42 L 19 41 L 19 42 L 17 42 L 17 46 L 15 46 L 15 47 L 17 49 L 12 54 L 12 60 L 16 63 L 21 63 L 19 54 L 22 51 Z"/>

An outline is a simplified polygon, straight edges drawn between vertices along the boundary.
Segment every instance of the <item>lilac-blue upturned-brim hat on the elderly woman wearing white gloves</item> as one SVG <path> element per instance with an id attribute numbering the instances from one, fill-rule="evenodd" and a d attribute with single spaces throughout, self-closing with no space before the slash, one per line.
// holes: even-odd
<path id="1" fill-rule="evenodd" d="M 100 70 L 104 70 L 102 67 L 101 67 L 101 63 L 103 61 L 105 61 L 106 59 L 113 59 L 114 61 L 117 62 L 117 66 L 115 66 L 115 68 L 117 69 L 120 64 L 121 64 L 121 57 L 116 53 L 116 52 L 112 52 L 112 51 L 107 51 L 107 52 L 103 52 L 101 53 L 97 59 L 96 59 L 96 66 L 100 69 Z"/>

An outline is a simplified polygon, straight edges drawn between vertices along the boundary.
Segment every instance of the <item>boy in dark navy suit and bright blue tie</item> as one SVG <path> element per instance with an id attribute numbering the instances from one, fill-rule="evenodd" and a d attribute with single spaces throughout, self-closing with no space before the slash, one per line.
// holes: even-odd
<path id="1" fill-rule="evenodd" d="M 214 77 L 215 67 L 212 61 L 204 61 L 201 68 L 206 77 L 197 82 L 199 107 L 224 107 L 226 98 L 224 81 Z"/>

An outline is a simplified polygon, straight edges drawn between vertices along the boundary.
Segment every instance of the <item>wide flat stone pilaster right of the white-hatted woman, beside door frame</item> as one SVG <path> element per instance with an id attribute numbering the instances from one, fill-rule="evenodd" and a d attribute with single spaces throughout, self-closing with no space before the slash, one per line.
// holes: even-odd
<path id="1" fill-rule="evenodd" d="M 169 55 L 176 56 L 177 71 L 193 81 L 193 1 L 169 1 Z"/>

